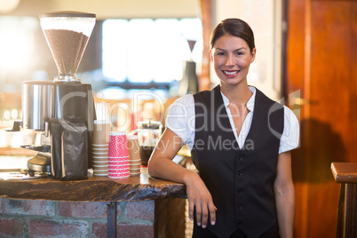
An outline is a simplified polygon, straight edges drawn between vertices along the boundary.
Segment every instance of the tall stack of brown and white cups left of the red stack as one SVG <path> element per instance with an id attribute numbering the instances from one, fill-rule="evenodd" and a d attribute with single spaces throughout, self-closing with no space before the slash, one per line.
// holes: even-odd
<path id="1" fill-rule="evenodd" d="M 93 176 L 107 176 L 108 164 L 108 142 L 110 133 L 110 122 L 94 121 L 93 144 L 91 145 L 91 157 L 93 163 Z"/>

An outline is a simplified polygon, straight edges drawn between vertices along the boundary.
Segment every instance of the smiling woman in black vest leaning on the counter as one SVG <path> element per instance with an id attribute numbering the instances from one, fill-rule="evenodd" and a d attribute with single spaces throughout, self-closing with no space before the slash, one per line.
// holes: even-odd
<path id="1" fill-rule="evenodd" d="M 186 185 L 193 237 L 293 235 L 290 150 L 298 147 L 298 119 L 248 85 L 255 57 L 250 26 L 220 22 L 210 36 L 220 84 L 173 103 L 148 163 L 151 176 Z M 172 162 L 185 144 L 198 173 Z"/>

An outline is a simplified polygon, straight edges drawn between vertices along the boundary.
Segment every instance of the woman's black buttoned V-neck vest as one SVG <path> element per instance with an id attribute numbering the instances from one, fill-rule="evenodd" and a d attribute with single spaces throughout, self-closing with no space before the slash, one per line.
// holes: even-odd
<path id="1" fill-rule="evenodd" d="M 277 221 L 274 179 L 283 131 L 281 104 L 256 89 L 254 114 L 244 146 L 239 148 L 229 123 L 220 86 L 194 94 L 195 136 L 191 155 L 218 208 L 218 237 L 241 229 L 258 237 Z"/>

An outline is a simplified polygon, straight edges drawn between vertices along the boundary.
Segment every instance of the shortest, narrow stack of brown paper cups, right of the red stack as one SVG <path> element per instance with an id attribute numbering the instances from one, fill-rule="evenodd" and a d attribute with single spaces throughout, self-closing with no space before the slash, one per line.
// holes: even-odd
<path id="1" fill-rule="evenodd" d="M 138 136 L 128 136 L 130 176 L 140 175 L 140 154 Z"/>

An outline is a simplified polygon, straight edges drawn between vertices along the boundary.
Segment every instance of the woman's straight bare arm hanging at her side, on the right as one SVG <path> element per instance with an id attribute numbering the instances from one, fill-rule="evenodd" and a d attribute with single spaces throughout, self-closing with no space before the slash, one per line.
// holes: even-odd
<path id="1" fill-rule="evenodd" d="M 295 188 L 291 176 L 291 155 L 284 152 L 278 157 L 274 181 L 276 212 L 282 238 L 293 237 L 295 219 Z"/>

